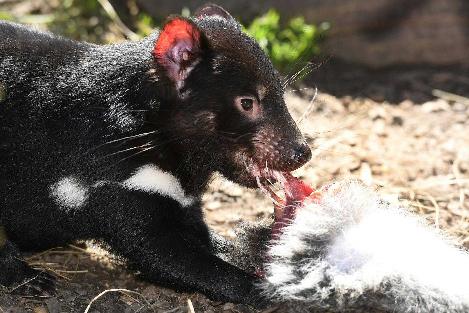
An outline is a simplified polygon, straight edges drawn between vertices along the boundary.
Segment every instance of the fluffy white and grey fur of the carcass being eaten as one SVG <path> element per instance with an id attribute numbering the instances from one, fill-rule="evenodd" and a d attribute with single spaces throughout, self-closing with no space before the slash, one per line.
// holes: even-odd
<path id="1" fill-rule="evenodd" d="M 469 312 L 468 253 L 371 189 L 340 181 L 292 214 L 252 265 L 262 268 L 257 287 L 273 302 L 293 312 Z M 242 227 L 238 249 L 265 234 L 253 229 Z"/>

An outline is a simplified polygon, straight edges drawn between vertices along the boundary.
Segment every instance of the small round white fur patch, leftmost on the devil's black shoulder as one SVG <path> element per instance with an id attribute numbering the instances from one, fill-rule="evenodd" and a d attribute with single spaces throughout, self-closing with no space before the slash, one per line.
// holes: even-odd
<path id="1" fill-rule="evenodd" d="M 88 188 L 83 187 L 80 182 L 69 176 L 54 183 L 51 188 L 51 196 L 61 206 L 68 210 L 77 209 L 83 205 L 88 198 Z"/>

